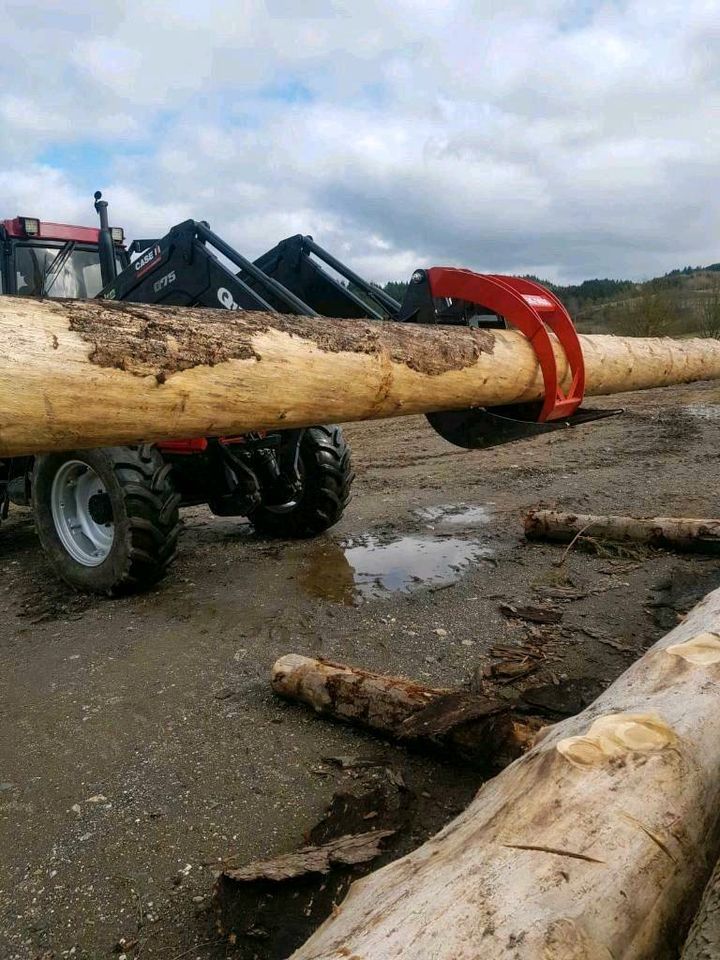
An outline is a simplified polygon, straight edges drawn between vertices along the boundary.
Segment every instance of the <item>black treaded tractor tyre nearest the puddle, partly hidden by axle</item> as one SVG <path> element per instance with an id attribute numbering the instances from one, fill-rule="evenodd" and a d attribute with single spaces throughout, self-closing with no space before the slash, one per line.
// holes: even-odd
<path id="1" fill-rule="evenodd" d="M 300 440 L 299 467 L 302 490 L 296 500 L 280 506 L 261 505 L 249 515 L 258 533 L 313 537 L 342 517 L 355 474 L 340 427 L 308 427 Z"/>

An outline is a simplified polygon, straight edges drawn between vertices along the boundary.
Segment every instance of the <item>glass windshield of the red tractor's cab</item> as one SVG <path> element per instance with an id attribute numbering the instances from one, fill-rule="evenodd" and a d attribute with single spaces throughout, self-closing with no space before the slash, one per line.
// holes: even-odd
<path id="1" fill-rule="evenodd" d="M 122 269 L 118 264 L 119 269 Z M 102 289 L 97 250 L 75 244 L 15 248 L 17 292 L 22 297 L 69 297 L 86 300 Z"/>

